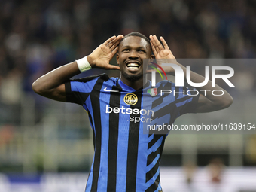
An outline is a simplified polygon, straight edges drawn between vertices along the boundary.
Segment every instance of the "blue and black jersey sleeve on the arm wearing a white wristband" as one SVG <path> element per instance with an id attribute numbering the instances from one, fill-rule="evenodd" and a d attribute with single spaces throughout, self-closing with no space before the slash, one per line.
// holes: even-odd
<path id="1" fill-rule="evenodd" d="M 72 79 L 65 84 L 66 102 L 84 105 L 100 75 Z"/>

